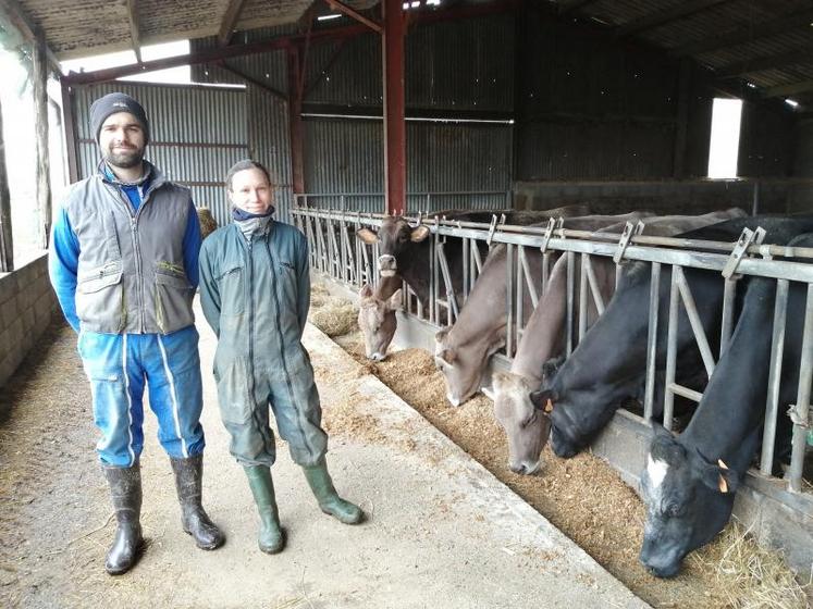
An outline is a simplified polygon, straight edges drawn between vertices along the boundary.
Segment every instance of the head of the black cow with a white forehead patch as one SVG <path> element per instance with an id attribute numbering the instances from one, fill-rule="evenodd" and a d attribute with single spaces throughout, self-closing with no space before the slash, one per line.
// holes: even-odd
<path id="1" fill-rule="evenodd" d="M 718 460 L 685 447 L 656 423 L 641 474 L 646 505 L 639 560 L 654 575 L 672 577 L 686 555 L 719 533 L 734 507 L 739 476 Z"/>

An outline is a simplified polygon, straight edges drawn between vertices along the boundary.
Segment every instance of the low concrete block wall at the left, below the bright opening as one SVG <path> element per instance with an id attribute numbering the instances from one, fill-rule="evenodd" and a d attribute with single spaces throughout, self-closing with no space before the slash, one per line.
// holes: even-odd
<path id="1" fill-rule="evenodd" d="M 59 310 L 44 253 L 0 275 L 0 387 L 4 386 Z"/>

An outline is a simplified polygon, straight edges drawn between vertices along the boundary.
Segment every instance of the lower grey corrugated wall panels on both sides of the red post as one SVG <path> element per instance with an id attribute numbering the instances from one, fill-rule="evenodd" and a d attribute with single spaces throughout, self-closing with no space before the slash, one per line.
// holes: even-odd
<path id="1" fill-rule="evenodd" d="M 345 209 L 380 211 L 384 191 L 382 122 L 308 119 L 305 181 L 308 192 L 368 192 Z M 510 190 L 512 127 L 507 124 L 407 123 L 407 192 L 412 210 L 497 209 Z M 426 194 L 432 192 L 430 203 Z M 446 195 L 441 195 L 441 194 Z M 451 192 L 491 192 L 456 195 Z M 340 198 L 312 199 L 341 206 Z"/>

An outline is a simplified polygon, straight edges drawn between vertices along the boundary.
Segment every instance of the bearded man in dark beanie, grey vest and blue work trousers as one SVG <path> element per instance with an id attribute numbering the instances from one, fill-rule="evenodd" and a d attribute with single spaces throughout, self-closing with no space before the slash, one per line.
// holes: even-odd
<path id="1" fill-rule="evenodd" d="M 202 549 L 224 536 L 200 504 L 204 430 L 198 334 L 192 299 L 200 227 L 189 191 L 144 160 L 144 108 L 115 92 L 90 107 L 102 160 L 74 184 L 53 225 L 49 270 L 90 381 L 102 471 L 118 521 L 106 569 L 132 568 L 139 514 L 145 385 L 170 457 L 182 524 Z"/>

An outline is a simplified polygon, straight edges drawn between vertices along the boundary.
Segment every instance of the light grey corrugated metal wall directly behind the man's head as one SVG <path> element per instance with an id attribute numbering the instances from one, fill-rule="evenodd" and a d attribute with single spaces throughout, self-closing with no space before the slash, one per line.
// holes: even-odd
<path id="1" fill-rule="evenodd" d="M 90 103 L 112 91 L 136 98 L 150 120 L 147 159 L 168 177 L 192 189 L 197 207 L 208 207 L 219 224 L 229 221 L 223 177 L 248 157 L 246 94 L 241 89 L 107 83 L 76 89 L 79 173 L 90 175 L 99 148 L 90 133 Z"/>

